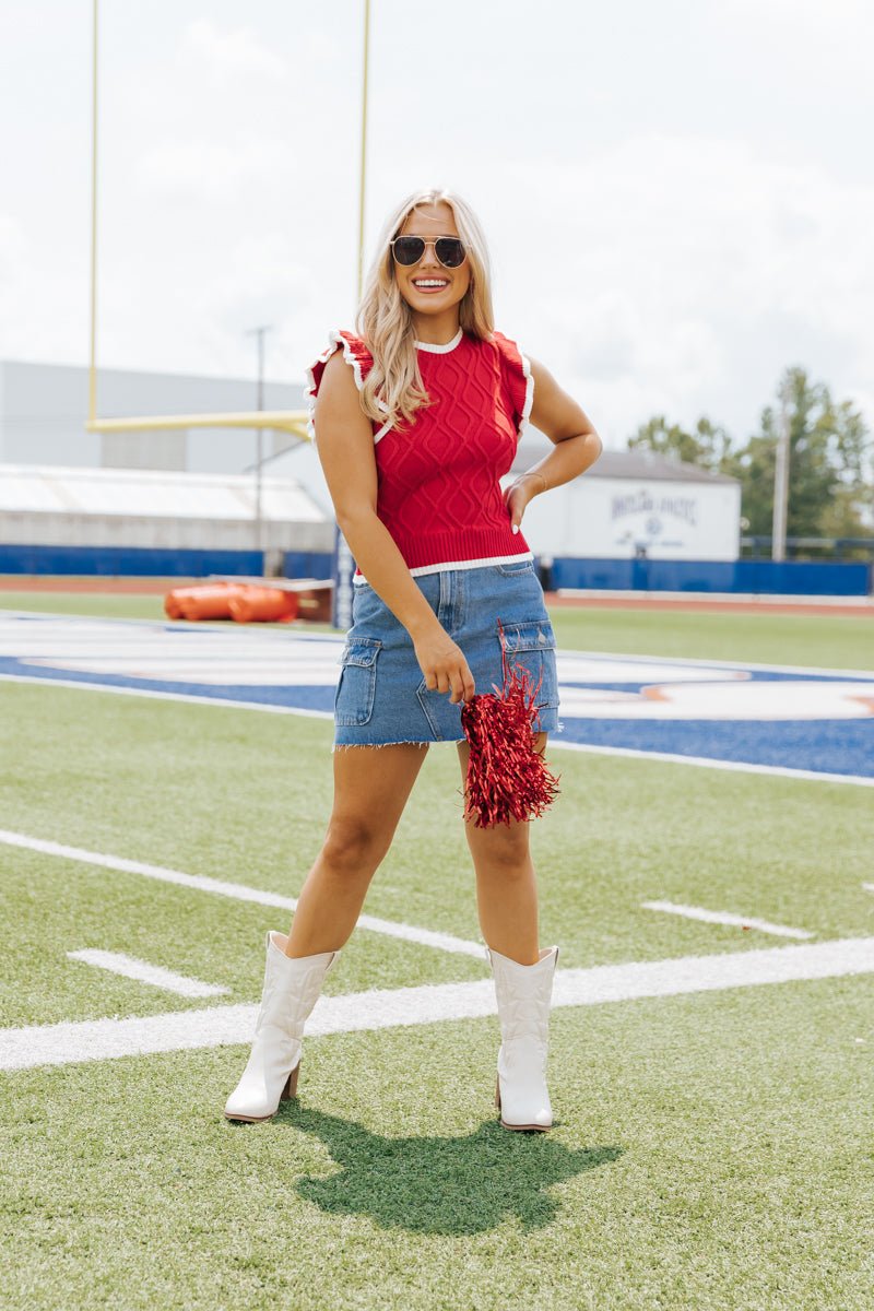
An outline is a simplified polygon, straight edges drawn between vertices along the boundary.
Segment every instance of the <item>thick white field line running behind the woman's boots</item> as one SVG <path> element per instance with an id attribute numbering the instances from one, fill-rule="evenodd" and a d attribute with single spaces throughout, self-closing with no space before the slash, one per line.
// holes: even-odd
<path id="1" fill-rule="evenodd" d="M 850 937 L 806 947 L 770 947 L 718 956 L 599 965 L 557 970 L 553 1007 L 600 1006 L 639 998 L 677 996 L 765 983 L 843 978 L 874 973 L 874 937 Z M 111 1061 L 155 1051 L 250 1044 L 257 1006 L 215 1006 L 176 1015 L 126 1020 L 0 1029 L 0 1068 Z M 494 985 L 436 983 L 373 988 L 345 996 L 321 996 L 307 1024 L 311 1037 L 328 1033 L 438 1024 L 495 1013 Z"/>

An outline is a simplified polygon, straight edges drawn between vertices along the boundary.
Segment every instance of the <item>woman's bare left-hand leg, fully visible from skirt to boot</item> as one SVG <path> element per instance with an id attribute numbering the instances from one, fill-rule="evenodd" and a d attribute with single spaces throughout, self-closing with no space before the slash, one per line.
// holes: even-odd
<path id="1" fill-rule="evenodd" d="M 427 743 L 409 742 L 334 751 L 334 805 L 286 956 L 335 952 L 347 941 L 426 755 Z"/>

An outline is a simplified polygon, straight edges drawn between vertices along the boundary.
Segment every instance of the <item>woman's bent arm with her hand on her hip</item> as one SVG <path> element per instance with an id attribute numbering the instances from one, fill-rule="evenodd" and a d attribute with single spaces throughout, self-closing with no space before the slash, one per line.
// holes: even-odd
<path id="1" fill-rule="evenodd" d="M 601 454 L 603 443 L 586 412 L 573 396 L 562 391 L 544 364 L 531 359 L 535 380 L 535 402 L 531 422 L 545 433 L 554 450 L 544 455 L 527 473 L 520 473 L 504 492 L 514 531 L 519 528 L 525 506 L 550 488 L 570 482 L 590 468 Z"/>

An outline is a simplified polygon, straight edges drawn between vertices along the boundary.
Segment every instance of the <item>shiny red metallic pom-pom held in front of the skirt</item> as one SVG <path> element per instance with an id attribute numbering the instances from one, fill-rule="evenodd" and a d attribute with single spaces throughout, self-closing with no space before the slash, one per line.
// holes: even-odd
<path id="1" fill-rule="evenodd" d="M 503 691 L 472 696 L 461 708 L 461 726 L 470 743 L 464 817 L 477 829 L 511 819 L 533 819 L 558 794 L 558 779 L 536 750 L 535 720 L 542 673 L 536 686 L 524 667 L 508 670 L 501 620 Z"/>

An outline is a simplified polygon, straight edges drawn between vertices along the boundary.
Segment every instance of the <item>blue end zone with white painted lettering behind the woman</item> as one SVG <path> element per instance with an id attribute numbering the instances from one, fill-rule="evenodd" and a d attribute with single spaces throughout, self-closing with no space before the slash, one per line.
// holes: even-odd
<path id="1" fill-rule="evenodd" d="M 0 679 L 329 717 L 343 636 L 7 612 Z M 580 750 L 874 780 L 874 673 L 560 652 Z"/>

